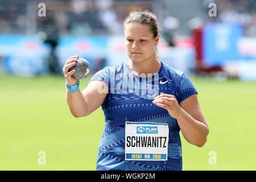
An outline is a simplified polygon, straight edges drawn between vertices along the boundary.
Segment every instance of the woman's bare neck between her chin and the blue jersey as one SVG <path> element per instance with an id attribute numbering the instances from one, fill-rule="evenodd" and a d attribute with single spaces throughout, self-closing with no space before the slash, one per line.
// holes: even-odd
<path id="1" fill-rule="evenodd" d="M 129 65 L 134 75 L 137 75 L 137 76 L 141 75 L 142 73 L 146 74 L 146 77 L 148 73 L 155 75 L 160 71 L 160 68 L 161 68 L 161 63 L 157 59 L 146 60 L 141 62 L 133 62 L 129 60 L 127 64 Z"/>

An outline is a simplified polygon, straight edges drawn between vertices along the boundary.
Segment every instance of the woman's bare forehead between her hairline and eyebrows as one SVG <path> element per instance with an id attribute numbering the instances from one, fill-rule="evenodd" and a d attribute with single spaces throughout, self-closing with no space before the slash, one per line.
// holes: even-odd
<path id="1" fill-rule="evenodd" d="M 125 25 L 125 37 L 139 38 L 146 36 L 152 38 L 153 34 L 148 24 L 128 23 Z"/>

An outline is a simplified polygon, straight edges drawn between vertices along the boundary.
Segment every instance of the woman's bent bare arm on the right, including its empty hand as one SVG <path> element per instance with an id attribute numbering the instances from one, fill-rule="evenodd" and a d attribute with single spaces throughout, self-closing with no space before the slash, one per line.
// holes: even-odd
<path id="1" fill-rule="evenodd" d="M 198 147 L 204 146 L 209 133 L 209 126 L 200 109 L 197 94 L 177 103 L 175 96 L 161 93 L 153 101 L 159 107 L 168 110 L 171 117 L 176 118 L 184 138 Z"/>

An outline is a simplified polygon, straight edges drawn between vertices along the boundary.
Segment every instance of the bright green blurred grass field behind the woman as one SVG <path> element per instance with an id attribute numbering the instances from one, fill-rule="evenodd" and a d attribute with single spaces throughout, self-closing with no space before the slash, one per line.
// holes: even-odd
<path id="1" fill-rule="evenodd" d="M 81 89 L 89 78 L 81 80 Z M 256 82 L 191 77 L 210 126 L 204 147 L 184 140 L 183 170 L 256 170 Z M 0 170 L 95 170 L 104 129 L 99 107 L 75 118 L 64 77 L 0 77 Z M 39 151 L 46 164 L 39 165 Z M 210 165 L 209 152 L 217 154 Z"/>

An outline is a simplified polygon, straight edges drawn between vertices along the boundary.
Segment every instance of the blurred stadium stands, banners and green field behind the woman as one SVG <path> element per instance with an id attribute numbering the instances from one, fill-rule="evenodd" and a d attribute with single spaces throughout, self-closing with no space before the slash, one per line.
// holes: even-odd
<path id="1" fill-rule="evenodd" d="M 1 170 L 96 169 L 103 112 L 72 116 L 62 68 L 73 55 L 92 74 L 126 61 L 122 22 L 137 9 L 158 16 L 159 60 L 189 75 L 210 126 L 203 148 L 180 133 L 183 169 L 256 169 L 256 1 L 0 0 Z"/>

